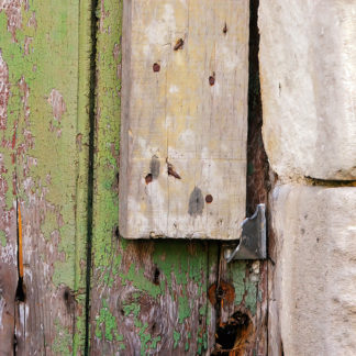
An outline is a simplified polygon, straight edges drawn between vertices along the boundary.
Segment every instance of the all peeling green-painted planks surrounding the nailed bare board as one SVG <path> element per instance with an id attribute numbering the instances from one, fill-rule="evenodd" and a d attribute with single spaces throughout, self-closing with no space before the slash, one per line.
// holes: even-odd
<path id="1" fill-rule="evenodd" d="M 119 236 L 122 1 L 101 0 L 98 9 L 90 2 L 0 2 L 0 354 L 12 354 L 15 335 L 19 355 L 80 355 L 89 327 L 91 355 L 203 355 L 213 352 L 215 334 L 221 337 L 240 312 L 252 323 L 249 329 L 237 323 L 235 355 L 263 355 L 263 267 L 226 266 L 216 242 Z M 97 62 L 90 68 L 93 12 Z M 96 98 L 89 92 L 90 70 Z M 15 301 L 16 199 L 23 215 L 24 301 Z M 233 299 L 214 293 L 211 302 L 212 286 L 223 290 L 224 282 Z"/>

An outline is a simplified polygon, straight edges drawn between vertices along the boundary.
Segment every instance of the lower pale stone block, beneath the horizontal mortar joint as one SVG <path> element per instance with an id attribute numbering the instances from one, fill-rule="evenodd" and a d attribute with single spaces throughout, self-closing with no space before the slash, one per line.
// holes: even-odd
<path id="1" fill-rule="evenodd" d="M 356 355 L 356 189 L 279 186 L 271 216 L 279 330 L 269 332 L 288 356 Z"/>

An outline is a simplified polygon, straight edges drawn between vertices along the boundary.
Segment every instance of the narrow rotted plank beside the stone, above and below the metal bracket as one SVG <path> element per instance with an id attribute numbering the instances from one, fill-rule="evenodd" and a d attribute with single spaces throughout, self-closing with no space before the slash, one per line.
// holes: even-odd
<path id="1" fill-rule="evenodd" d="M 257 27 L 258 0 L 249 1 L 248 54 L 248 137 L 246 212 L 251 216 L 258 203 L 267 204 L 268 160 L 262 140 Z M 236 260 L 226 265 L 220 258 L 218 293 L 209 297 L 216 304 L 215 353 L 231 356 L 267 352 L 267 262 Z"/>

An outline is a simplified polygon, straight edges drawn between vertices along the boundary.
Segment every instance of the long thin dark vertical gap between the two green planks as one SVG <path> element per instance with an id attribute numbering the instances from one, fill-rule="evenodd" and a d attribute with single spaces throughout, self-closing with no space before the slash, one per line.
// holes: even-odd
<path id="1" fill-rule="evenodd" d="M 89 164 L 88 164 L 88 219 L 87 219 L 87 270 L 86 270 L 86 341 L 85 355 L 89 355 L 90 340 L 90 278 L 92 253 L 92 198 L 93 198 L 93 160 L 96 132 L 96 85 L 97 85 L 97 32 L 98 32 L 98 0 L 91 0 L 90 8 L 90 77 L 89 77 Z"/>

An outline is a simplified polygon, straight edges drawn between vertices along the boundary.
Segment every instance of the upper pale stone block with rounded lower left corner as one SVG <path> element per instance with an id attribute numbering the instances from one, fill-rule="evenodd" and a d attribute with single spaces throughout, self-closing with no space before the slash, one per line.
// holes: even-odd
<path id="1" fill-rule="evenodd" d="M 356 3 L 260 1 L 264 143 L 282 177 L 356 178 Z"/>

